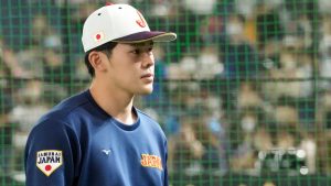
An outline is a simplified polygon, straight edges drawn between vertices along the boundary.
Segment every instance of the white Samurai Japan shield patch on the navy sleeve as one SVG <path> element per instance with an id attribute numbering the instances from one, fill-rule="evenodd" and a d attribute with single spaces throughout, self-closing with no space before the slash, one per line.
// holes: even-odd
<path id="1" fill-rule="evenodd" d="M 62 163 L 62 151 L 44 150 L 36 152 L 36 167 L 46 176 L 50 176 Z"/>

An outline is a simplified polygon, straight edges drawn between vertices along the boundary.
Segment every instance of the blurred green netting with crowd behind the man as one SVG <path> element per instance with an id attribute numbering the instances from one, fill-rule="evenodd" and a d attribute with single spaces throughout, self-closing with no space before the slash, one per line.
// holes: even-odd
<path id="1" fill-rule="evenodd" d="M 168 136 L 171 185 L 331 185 L 330 0 L 122 2 L 178 34 L 136 101 Z M 0 1 L 1 186 L 24 185 L 38 118 L 87 88 L 82 25 L 104 4 Z"/>

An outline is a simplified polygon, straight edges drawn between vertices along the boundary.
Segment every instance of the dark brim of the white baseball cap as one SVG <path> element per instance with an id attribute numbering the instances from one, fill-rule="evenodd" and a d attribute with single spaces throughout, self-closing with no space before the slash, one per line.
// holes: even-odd
<path id="1" fill-rule="evenodd" d="M 119 42 L 119 43 L 141 43 L 147 41 L 171 42 L 174 41 L 175 39 L 177 39 L 177 34 L 172 32 L 145 31 L 145 32 L 138 32 L 131 35 L 113 40 L 113 42 Z"/>

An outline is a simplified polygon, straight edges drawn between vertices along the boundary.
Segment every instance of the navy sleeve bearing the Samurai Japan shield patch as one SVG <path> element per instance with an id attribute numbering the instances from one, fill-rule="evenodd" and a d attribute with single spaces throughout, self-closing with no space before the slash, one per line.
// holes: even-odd
<path id="1" fill-rule="evenodd" d="M 72 128 L 44 120 L 29 134 L 24 164 L 26 186 L 72 186 L 79 162 L 78 140 Z"/>

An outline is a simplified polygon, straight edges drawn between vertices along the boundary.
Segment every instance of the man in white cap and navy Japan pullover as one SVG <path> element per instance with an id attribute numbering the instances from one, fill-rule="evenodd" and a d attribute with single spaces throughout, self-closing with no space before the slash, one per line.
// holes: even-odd
<path id="1" fill-rule="evenodd" d="M 135 95 L 152 91 L 153 42 L 175 37 L 151 32 L 128 4 L 93 12 L 82 37 L 90 87 L 62 101 L 31 131 L 26 186 L 168 185 L 167 139 L 132 102 Z"/>

